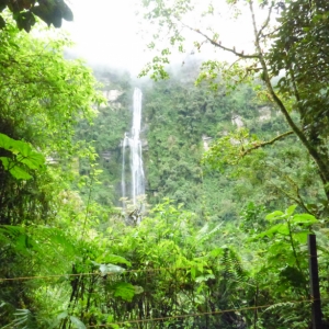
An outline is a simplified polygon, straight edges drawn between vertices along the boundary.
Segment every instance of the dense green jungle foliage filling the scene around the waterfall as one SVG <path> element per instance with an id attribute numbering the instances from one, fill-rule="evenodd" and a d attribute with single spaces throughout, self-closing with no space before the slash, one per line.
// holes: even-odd
<path id="1" fill-rule="evenodd" d="M 18 3 L 30 16 L 38 2 Z M 146 19 L 171 24 L 172 45 L 184 42 L 177 24 L 190 1 L 143 3 Z M 256 31 L 256 55 L 230 49 L 256 65 L 227 69 L 188 56 L 156 82 L 92 71 L 65 57 L 65 33 L 36 23 L 27 34 L 20 29 L 34 22 L 20 26 L 24 15 L 5 20 L 0 328 L 314 328 L 310 232 L 328 327 L 329 9 L 280 3 L 262 2 L 284 23 Z M 227 50 L 218 36 L 194 32 Z M 146 71 L 166 78 L 167 61 L 156 57 Z M 144 93 L 147 180 L 138 225 L 136 208 L 122 211 L 120 201 L 135 86 Z"/>

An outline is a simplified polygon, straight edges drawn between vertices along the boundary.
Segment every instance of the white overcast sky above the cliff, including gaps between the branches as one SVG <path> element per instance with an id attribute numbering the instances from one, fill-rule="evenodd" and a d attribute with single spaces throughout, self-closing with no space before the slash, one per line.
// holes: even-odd
<path id="1" fill-rule="evenodd" d="M 197 1 L 197 0 L 195 0 Z M 140 16 L 135 14 L 136 0 L 67 0 L 72 8 L 75 21 L 66 22 L 64 26 L 70 32 L 76 46 L 70 53 L 82 57 L 91 65 L 103 65 L 117 69 L 126 69 L 134 76 L 137 76 L 143 67 L 149 61 L 155 53 L 146 49 L 146 38 L 150 41 L 154 27 L 148 26 L 148 22 L 140 22 Z M 202 0 L 200 5 L 206 5 L 207 0 Z M 247 9 L 247 10 L 246 10 Z M 220 11 L 220 13 L 219 13 Z M 242 9 L 245 14 L 238 20 L 231 19 L 231 12 L 228 7 L 220 4 L 217 14 L 206 20 L 201 15 L 202 9 L 196 15 L 188 16 L 188 23 L 193 27 L 200 27 L 207 33 L 206 26 L 202 22 L 219 32 L 220 41 L 228 47 L 234 47 L 241 52 L 252 52 L 253 43 L 252 25 L 248 8 Z M 263 15 L 260 15 L 262 18 Z M 137 34 L 143 27 L 148 35 Z M 173 52 L 171 61 L 181 64 L 185 61 L 190 53 L 195 48 L 193 41 L 197 39 L 195 33 L 186 32 L 185 48 L 188 54 L 178 54 Z M 160 47 L 162 45 L 160 44 Z M 228 53 L 224 53 L 211 45 L 202 47 L 202 58 L 231 60 Z M 195 54 L 196 55 L 196 54 Z"/>

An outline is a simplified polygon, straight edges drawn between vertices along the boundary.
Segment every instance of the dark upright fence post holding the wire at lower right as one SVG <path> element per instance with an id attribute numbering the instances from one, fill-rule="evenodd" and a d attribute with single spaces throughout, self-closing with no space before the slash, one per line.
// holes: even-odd
<path id="1" fill-rule="evenodd" d="M 319 285 L 319 271 L 317 258 L 317 240 L 316 235 L 308 235 L 308 253 L 309 253 L 309 286 L 311 303 L 311 328 L 322 329 L 322 314 L 321 314 L 321 299 L 320 299 L 320 285 Z"/>

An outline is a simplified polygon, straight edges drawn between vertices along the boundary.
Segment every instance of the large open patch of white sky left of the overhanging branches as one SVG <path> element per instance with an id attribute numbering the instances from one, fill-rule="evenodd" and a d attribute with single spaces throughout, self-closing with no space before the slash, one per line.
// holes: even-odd
<path id="1" fill-rule="evenodd" d="M 89 61 L 138 71 L 150 58 L 137 32 L 134 0 L 70 0 L 75 21 L 64 24 L 75 52 Z"/>

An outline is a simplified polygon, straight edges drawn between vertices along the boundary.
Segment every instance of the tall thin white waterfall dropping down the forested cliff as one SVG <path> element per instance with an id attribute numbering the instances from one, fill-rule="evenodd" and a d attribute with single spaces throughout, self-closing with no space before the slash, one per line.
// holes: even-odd
<path id="1" fill-rule="evenodd" d="M 139 139 L 140 123 L 141 123 L 141 97 L 140 89 L 135 88 L 134 91 L 134 112 L 133 112 L 133 125 L 131 136 L 125 133 L 123 140 L 123 168 L 122 168 L 122 196 L 131 197 L 134 205 L 137 203 L 137 197 L 145 194 L 145 177 L 143 170 L 141 159 L 141 141 Z M 126 147 L 129 146 L 131 155 L 131 195 L 126 195 L 126 181 L 125 181 L 125 158 Z"/>

